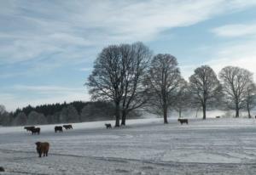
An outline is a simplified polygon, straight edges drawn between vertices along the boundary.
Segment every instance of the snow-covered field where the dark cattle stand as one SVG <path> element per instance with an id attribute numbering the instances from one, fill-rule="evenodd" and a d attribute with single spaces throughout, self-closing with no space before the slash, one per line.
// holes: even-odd
<path id="1" fill-rule="evenodd" d="M 63 133 L 40 126 L 40 135 L 0 127 L 0 174 L 256 174 L 254 119 L 141 119 L 113 129 L 105 122 Z M 38 158 L 37 141 L 49 142 L 48 157 Z"/>

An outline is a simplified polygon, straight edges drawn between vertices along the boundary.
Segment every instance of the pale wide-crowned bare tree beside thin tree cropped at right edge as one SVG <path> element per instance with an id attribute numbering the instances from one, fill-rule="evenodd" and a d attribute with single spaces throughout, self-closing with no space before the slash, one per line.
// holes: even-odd
<path id="1" fill-rule="evenodd" d="M 253 73 L 240 67 L 227 66 L 219 72 L 219 78 L 223 85 L 227 107 L 231 110 L 235 109 L 236 117 L 239 117 L 247 87 L 253 82 Z"/>

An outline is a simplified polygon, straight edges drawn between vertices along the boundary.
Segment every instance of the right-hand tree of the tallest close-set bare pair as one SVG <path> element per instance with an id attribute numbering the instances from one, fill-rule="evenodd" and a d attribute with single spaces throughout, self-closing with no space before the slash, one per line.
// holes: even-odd
<path id="1" fill-rule="evenodd" d="M 147 90 L 143 87 L 143 80 L 148 70 L 151 51 L 141 42 L 123 45 L 120 47 L 122 67 L 125 71 L 123 84 L 124 95 L 122 98 L 122 122 L 125 125 L 127 115 L 147 102 Z"/>

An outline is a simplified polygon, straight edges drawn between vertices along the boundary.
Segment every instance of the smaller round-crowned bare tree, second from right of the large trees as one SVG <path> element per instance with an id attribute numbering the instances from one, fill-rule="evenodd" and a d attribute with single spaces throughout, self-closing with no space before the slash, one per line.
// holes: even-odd
<path id="1" fill-rule="evenodd" d="M 195 104 L 200 104 L 203 119 L 207 119 L 207 105 L 214 104 L 221 97 L 221 85 L 212 68 L 202 65 L 189 77 L 189 92 Z"/>

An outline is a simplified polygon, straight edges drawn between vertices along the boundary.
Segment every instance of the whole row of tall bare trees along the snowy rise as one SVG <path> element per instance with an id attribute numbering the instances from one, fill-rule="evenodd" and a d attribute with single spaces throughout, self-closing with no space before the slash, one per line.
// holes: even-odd
<path id="1" fill-rule="evenodd" d="M 171 54 L 153 54 L 143 44 L 110 45 L 94 62 L 85 85 L 92 100 L 112 101 L 115 127 L 125 125 L 127 115 L 137 109 L 163 116 L 170 110 L 179 116 L 187 108 L 201 109 L 203 119 L 207 110 L 218 108 L 251 110 L 256 105 L 253 73 L 236 66 L 226 66 L 217 74 L 209 65 L 196 68 L 189 82 L 185 81 Z"/>

